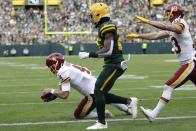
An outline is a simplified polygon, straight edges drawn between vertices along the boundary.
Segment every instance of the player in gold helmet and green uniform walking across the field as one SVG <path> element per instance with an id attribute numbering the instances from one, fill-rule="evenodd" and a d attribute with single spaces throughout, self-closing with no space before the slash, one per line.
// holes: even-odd
<path id="1" fill-rule="evenodd" d="M 100 48 L 97 52 L 79 52 L 80 59 L 104 58 L 104 66 L 95 83 L 95 104 L 98 114 L 98 121 L 87 129 L 107 128 L 105 121 L 105 103 L 128 104 L 132 110 L 132 117 L 137 117 L 137 98 L 124 98 L 109 93 L 115 81 L 127 68 L 122 54 L 122 41 L 117 32 L 117 27 L 110 20 L 110 8 L 105 3 L 95 3 L 90 9 L 90 18 L 95 28 L 98 29 L 97 45 Z"/>

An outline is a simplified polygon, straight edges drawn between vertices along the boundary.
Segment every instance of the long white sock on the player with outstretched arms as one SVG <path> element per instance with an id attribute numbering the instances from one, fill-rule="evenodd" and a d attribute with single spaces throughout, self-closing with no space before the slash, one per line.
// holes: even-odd
<path id="1" fill-rule="evenodd" d="M 171 99 L 173 90 L 174 89 L 172 87 L 164 85 L 164 90 L 161 97 L 169 101 Z M 159 102 L 157 103 L 157 106 L 152 111 L 153 116 L 156 117 L 161 112 L 161 110 L 163 110 L 166 104 L 167 102 L 160 99 Z"/>

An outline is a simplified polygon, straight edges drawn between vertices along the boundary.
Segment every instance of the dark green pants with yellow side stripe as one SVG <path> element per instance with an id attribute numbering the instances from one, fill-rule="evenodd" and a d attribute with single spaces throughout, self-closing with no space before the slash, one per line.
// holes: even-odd
<path id="1" fill-rule="evenodd" d="M 127 98 L 108 93 L 123 73 L 124 71 L 119 67 L 104 66 L 95 83 L 95 105 L 98 120 L 103 124 L 105 123 L 105 103 L 127 104 Z"/>

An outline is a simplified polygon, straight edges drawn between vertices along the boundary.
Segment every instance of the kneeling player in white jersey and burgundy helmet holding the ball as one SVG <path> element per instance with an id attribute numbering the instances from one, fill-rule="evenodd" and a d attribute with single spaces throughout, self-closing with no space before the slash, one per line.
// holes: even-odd
<path id="1" fill-rule="evenodd" d="M 60 88 L 45 88 L 43 95 L 52 95 L 54 99 L 56 99 L 56 97 L 67 99 L 70 93 L 70 87 L 72 87 L 84 96 L 74 112 L 75 118 L 82 119 L 97 117 L 97 113 L 92 112 L 92 110 L 95 108 L 94 88 L 96 78 L 92 76 L 91 71 L 86 67 L 66 62 L 63 55 L 60 53 L 50 54 L 46 59 L 46 65 L 50 71 L 59 78 Z M 45 98 L 42 99 L 45 102 L 51 101 Z M 110 104 L 112 102 L 106 100 L 106 103 Z M 132 117 L 136 116 L 136 114 L 132 112 L 130 105 L 117 103 L 112 105 L 117 107 L 119 110 L 132 115 Z M 106 110 L 105 114 L 109 117 L 112 115 L 108 110 Z"/>

